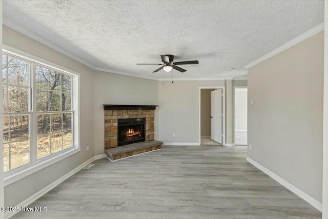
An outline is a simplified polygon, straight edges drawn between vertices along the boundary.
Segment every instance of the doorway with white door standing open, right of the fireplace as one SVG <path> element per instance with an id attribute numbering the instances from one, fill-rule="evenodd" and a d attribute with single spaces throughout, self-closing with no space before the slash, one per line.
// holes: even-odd
<path id="1" fill-rule="evenodd" d="M 225 145 L 224 88 L 199 87 L 199 145 Z"/>

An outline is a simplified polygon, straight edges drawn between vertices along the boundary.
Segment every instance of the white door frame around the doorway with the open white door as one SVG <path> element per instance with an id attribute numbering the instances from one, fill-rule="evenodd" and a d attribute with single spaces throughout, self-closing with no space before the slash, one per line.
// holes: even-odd
<path id="1" fill-rule="evenodd" d="M 200 91 L 201 89 L 222 89 L 222 145 L 226 146 L 226 87 L 208 86 L 198 87 L 198 145 L 200 145 Z"/>

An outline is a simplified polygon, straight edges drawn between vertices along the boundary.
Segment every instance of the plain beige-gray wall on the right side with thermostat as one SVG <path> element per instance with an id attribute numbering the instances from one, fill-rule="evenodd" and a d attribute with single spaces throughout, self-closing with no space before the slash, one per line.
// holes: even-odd
<path id="1" fill-rule="evenodd" d="M 248 156 L 322 202 L 323 31 L 248 71 Z M 249 102 L 248 101 L 248 102 Z"/>

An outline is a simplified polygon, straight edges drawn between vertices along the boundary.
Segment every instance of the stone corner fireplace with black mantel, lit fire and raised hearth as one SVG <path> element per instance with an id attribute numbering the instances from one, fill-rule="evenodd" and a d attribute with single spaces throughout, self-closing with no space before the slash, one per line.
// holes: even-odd
<path id="1" fill-rule="evenodd" d="M 111 161 L 161 149 L 163 143 L 154 141 L 156 107 L 104 105 L 105 153 Z"/>

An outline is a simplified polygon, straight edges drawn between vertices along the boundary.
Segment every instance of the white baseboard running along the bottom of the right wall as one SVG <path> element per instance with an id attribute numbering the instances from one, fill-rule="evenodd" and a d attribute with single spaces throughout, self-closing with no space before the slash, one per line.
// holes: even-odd
<path id="1" fill-rule="evenodd" d="M 284 187 L 288 188 L 289 190 L 291 190 L 292 192 L 294 192 L 295 194 L 297 194 L 298 196 L 300 196 L 304 201 L 308 202 L 310 205 L 312 205 L 313 207 L 315 207 L 316 209 L 318 209 L 319 211 L 322 212 L 322 203 L 320 203 L 319 201 L 315 200 L 313 197 L 311 197 L 310 195 L 308 195 L 305 192 L 301 191 L 300 189 L 296 188 L 294 185 L 292 185 L 289 182 L 285 181 L 283 178 L 281 178 L 280 176 L 278 176 L 275 173 L 271 172 L 267 168 L 263 167 L 262 165 L 260 165 L 256 161 L 252 160 L 252 158 L 247 157 L 246 158 L 246 161 L 248 161 L 249 163 L 253 164 L 259 170 L 261 170 L 265 174 L 269 175 L 275 181 L 277 181 L 278 183 L 280 183 Z"/>

